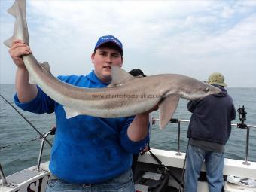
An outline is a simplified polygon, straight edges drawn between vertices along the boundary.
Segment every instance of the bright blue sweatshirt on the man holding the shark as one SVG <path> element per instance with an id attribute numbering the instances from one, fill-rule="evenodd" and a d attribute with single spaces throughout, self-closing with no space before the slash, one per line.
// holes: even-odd
<path id="1" fill-rule="evenodd" d="M 78 87 L 101 88 L 94 72 L 89 75 L 59 76 L 61 81 Z M 99 118 L 78 115 L 66 119 L 63 106 L 53 101 L 39 87 L 38 95 L 30 102 L 14 102 L 25 111 L 56 115 L 56 135 L 50 154 L 50 171 L 57 178 L 71 183 L 95 184 L 107 181 L 131 167 L 132 154 L 139 153 L 148 137 L 132 142 L 127 128 L 133 117 Z"/>

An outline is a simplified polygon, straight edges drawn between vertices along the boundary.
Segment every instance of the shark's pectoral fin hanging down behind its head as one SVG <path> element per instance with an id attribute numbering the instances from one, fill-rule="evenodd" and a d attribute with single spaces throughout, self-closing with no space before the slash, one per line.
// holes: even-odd
<path id="1" fill-rule="evenodd" d="M 177 106 L 180 96 L 177 94 L 170 95 L 163 99 L 163 102 L 160 102 L 159 108 L 159 126 L 161 129 L 166 127 L 169 120 L 172 118 Z"/>

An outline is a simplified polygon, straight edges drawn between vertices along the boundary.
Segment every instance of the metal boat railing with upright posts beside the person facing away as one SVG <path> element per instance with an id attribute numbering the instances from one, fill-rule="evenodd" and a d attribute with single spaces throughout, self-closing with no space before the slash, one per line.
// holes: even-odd
<path id="1" fill-rule="evenodd" d="M 159 119 L 154 119 L 159 120 Z M 181 156 L 181 123 L 190 123 L 190 120 L 181 120 L 181 119 L 171 119 L 169 120 L 169 123 L 177 123 L 178 124 L 178 148 L 176 155 Z M 245 161 L 242 162 L 244 165 L 250 165 L 248 163 L 248 146 L 249 146 L 249 136 L 250 136 L 250 128 L 256 128 L 254 125 L 246 125 L 244 123 L 231 123 L 231 126 L 236 126 L 239 129 L 246 129 L 246 145 L 245 145 Z"/>

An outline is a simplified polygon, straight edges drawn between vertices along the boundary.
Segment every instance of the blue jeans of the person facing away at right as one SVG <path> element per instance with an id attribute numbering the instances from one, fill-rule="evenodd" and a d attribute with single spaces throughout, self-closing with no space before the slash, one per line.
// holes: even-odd
<path id="1" fill-rule="evenodd" d="M 221 192 L 223 185 L 224 153 L 216 153 L 188 145 L 187 167 L 184 176 L 184 191 L 197 192 L 197 180 L 200 177 L 200 170 L 206 163 L 206 178 L 210 192 Z"/>

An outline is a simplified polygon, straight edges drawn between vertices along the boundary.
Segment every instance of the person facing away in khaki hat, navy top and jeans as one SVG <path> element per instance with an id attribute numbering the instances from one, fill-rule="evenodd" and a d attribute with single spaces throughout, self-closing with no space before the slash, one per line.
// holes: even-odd
<path id="1" fill-rule="evenodd" d="M 197 180 L 203 161 L 210 192 L 221 192 L 223 186 L 224 146 L 230 137 L 231 120 L 236 118 L 233 99 L 224 89 L 224 75 L 219 72 L 209 76 L 209 84 L 221 93 L 190 101 L 187 109 L 192 113 L 187 130 L 187 167 L 184 191 L 197 192 Z"/>

